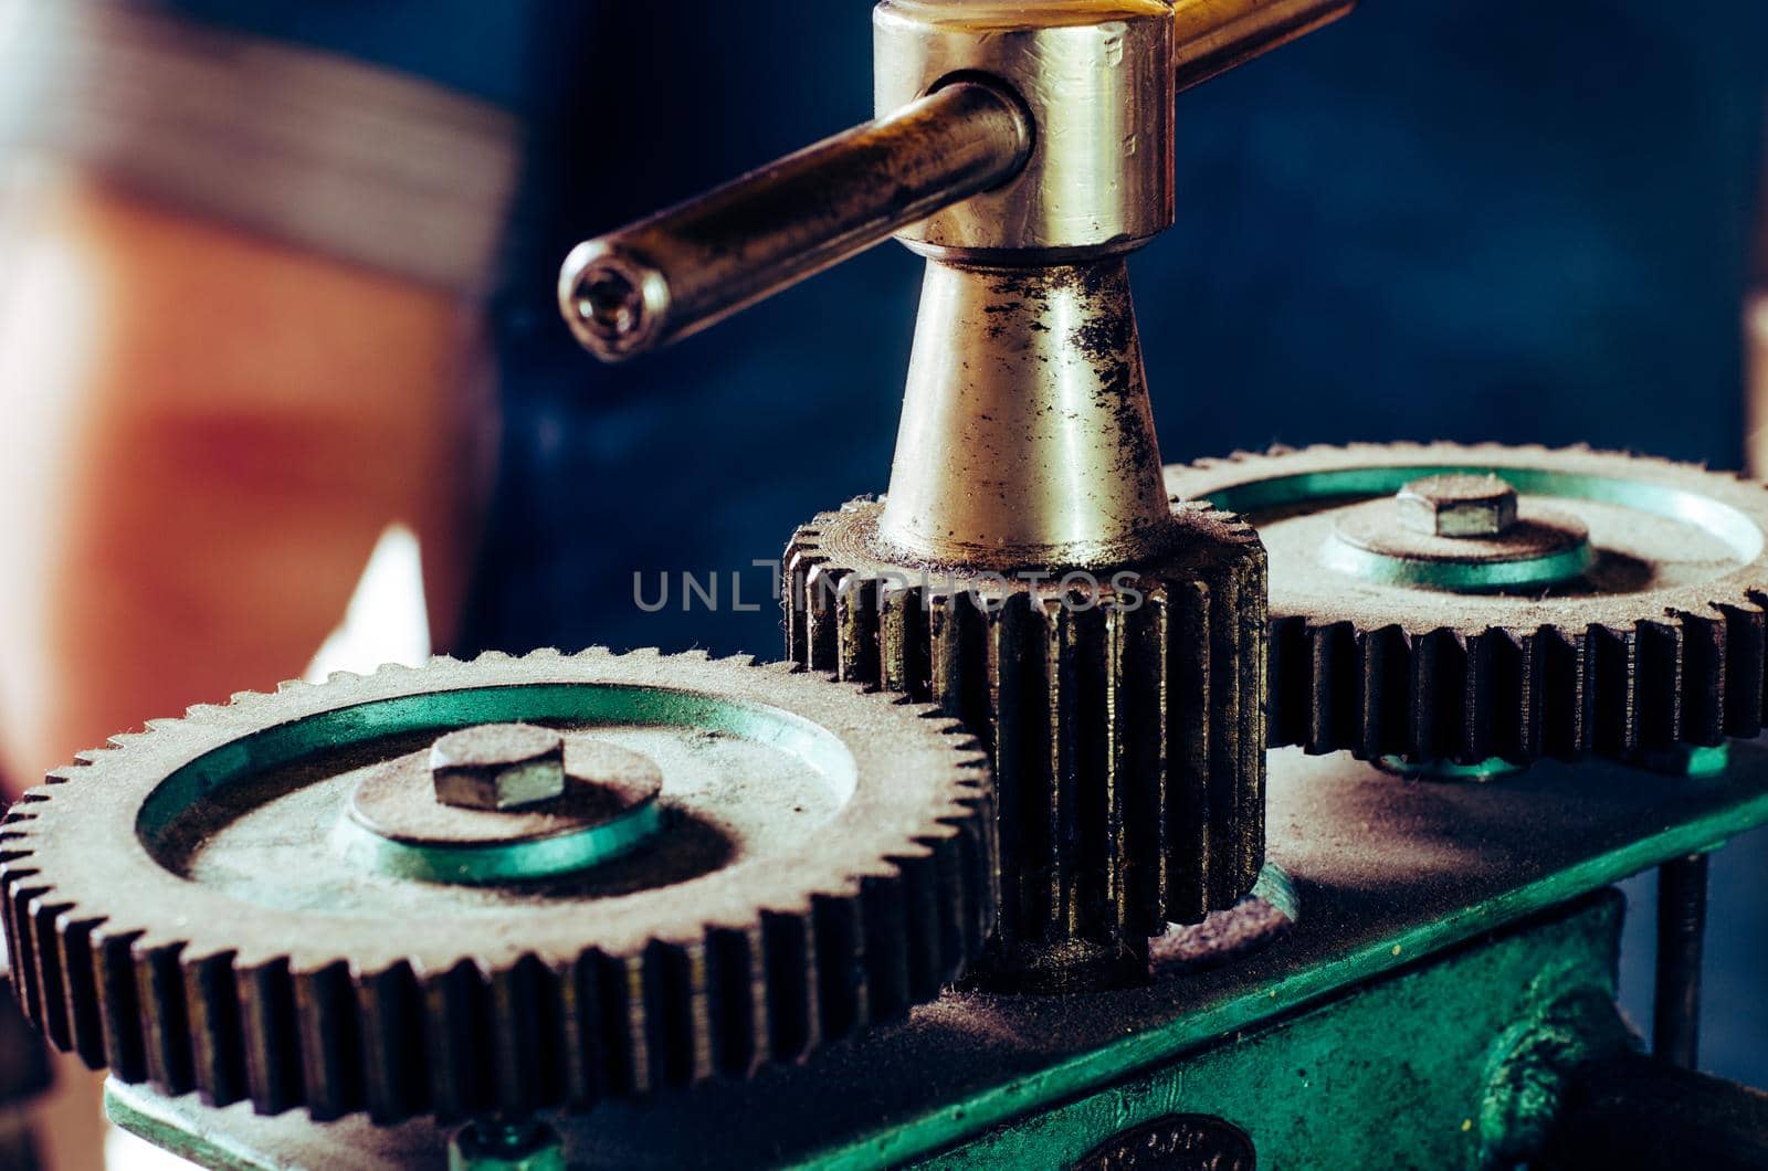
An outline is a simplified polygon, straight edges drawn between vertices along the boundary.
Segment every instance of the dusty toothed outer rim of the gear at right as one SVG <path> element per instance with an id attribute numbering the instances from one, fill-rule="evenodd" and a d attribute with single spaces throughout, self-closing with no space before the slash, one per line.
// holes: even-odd
<path id="1" fill-rule="evenodd" d="M 1238 453 L 1169 467 L 1183 499 L 1234 504 L 1239 492 L 1324 483 L 1347 472 L 1473 467 L 1563 474 L 1710 497 L 1768 534 L 1768 492 L 1734 474 L 1658 458 L 1497 444 L 1353 444 Z M 1349 481 L 1347 481 L 1349 483 Z M 1370 488 L 1321 506 L 1377 495 Z M 1264 499 L 1259 495 L 1257 499 Z M 1255 527 L 1305 517 L 1291 501 Z M 1261 508 L 1266 508 L 1261 504 Z M 1292 555 L 1287 554 L 1285 555 Z M 1628 759 L 1674 745 L 1756 736 L 1768 702 L 1768 555 L 1699 584 L 1536 591 L 1492 598 L 1372 586 L 1278 561 L 1271 578 L 1269 738 L 1273 746 L 1351 750 L 1413 761 L 1600 754 Z M 1310 578 L 1310 580 L 1303 580 Z M 1448 610 L 1460 608 L 1457 623 Z"/>

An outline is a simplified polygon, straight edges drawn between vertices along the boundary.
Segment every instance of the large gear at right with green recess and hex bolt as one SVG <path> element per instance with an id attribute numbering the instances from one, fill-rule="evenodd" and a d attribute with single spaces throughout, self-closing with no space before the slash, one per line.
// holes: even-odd
<path id="1" fill-rule="evenodd" d="M 1452 483 L 1395 499 L 1459 474 L 1508 483 L 1520 515 L 1457 513 L 1483 504 Z M 1269 548 L 1273 745 L 1630 759 L 1763 727 L 1757 483 L 1582 448 L 1365 444 L 1170 467 L 1167 486 Z"/>

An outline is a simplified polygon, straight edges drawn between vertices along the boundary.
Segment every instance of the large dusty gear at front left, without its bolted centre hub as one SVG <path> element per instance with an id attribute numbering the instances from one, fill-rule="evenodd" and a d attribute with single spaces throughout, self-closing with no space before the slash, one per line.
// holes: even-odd
<path id="1" fill-rule="evenodd" d="M 656 840 L 492 884 L 347 860 L 352 789 L 497 722 L 654 762 Z M 930 999 L 992 922 L 988 805 L 926 708 L 746 658 L 490 654 L 117 738 L 11 810 L 0 883 L 30 1015 L 126 1083 L 520 1116 L 741 1077 Z"/>

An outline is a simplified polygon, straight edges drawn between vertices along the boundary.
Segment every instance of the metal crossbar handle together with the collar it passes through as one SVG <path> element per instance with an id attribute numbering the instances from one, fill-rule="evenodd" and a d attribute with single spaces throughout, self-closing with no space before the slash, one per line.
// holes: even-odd
<path id="1" fill-rule="evenodd" d="M 907 92 L 921 94 L 935 83 L 930 94 L 697 200 L 578 244 L 559 276 L 560 310 L 592 354 L 605 361 L 631 357 L 705 329 L 1020 172 L 1020 184 L 1034 189 L 1017 203 L 979 209 L 983 219 L 1004 226 L 1015 214 L 1036 210 L 1018 233 L 1040 237 L 1040 249 L 1050 255 L 1098 241 L 1041 239 L 1048 232 L 1086 235 L 1089 225 L 1094 233 L 1117 225 L 1130 233 L 1135 225 L 1114 218 L 1121 207 L 1094 209 L 1087 200 L 1147 196 L 1146 182 L 1126 179 L 1135 173 L 1146 180 L 1149 166 L 1170 168 L 1172 80 L 1177 88 L 1197 85 L 1319 28 L 1353 4 L 1177 0 L 1167 7 L 1163 0 L 1123 0 L 1119 12 L 1114 5 L 1082 4 L 888 0 L 879 12 L 903 16 L 916 30 L 905 42 L 912 55 L 905 71 L 914 81 Z M 1087 14 L 1101 21 L 1094 32 L 1110 27 L 1119 30 L 1126 23 L 1158 27 L 1158 37 L 1142 39 L 1158 46 L 1158 57 L 1132 67 L 1123 44 L 1105 37 L 1109 51 L 1086 58 L 1080 48 L 1091 41 L 1073 34 Z M 1158 85 L 1149 85 L 1142 69 L 1149 64 Z M 946 83 L 937 85 L 941 80 Z M 1084 85 L 1089 80 L 1096 83 L 1091 90 Z M 1151 101 L 1162 106 L 1162 117 L 1146 117 Z M 1160 142 L 1132 133 L 1124 150 L 1100 145 L 1109 129 L 1147 126 Z M 1034 145 L 1040 133 L 1043 147 Z M 1091 182 L 1077 184 L 1077 173 Z M 1165 193 L 1169 202 L 1140 219 L 1165 216 L 1170 223 L 1169 170 L 1153 193 Z M 969 244 L 981 253 L 1013 246 Z"/>

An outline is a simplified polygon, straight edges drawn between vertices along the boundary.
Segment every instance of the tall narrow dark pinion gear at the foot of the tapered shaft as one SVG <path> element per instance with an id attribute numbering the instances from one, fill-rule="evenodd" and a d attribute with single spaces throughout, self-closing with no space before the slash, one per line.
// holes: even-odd
<path id="1" fill-rule="evenodd" d="M 939 702 L 997 784 L 988 978 L 1061 991 L 1146 978 L 1169 922 L 1234 906 L 1264 860 L 1264 552 L 1176 509 L 1123 571 L 953 568 L 888 552 L 854 501 L 787 547 L 789 656 Z"/>

